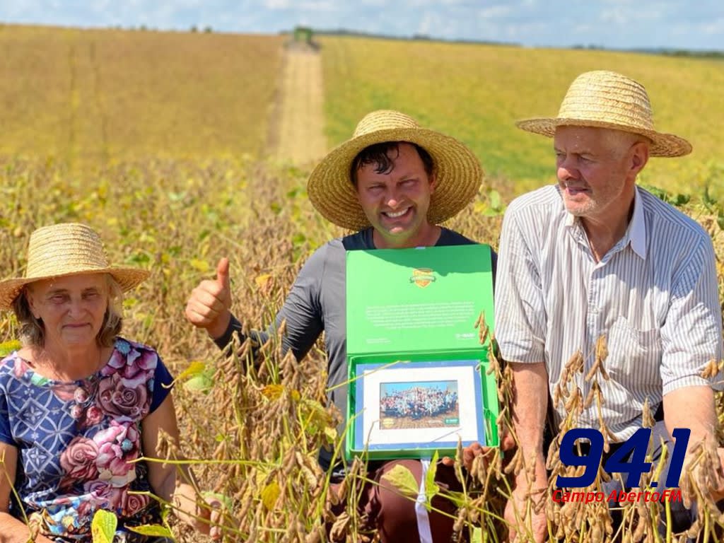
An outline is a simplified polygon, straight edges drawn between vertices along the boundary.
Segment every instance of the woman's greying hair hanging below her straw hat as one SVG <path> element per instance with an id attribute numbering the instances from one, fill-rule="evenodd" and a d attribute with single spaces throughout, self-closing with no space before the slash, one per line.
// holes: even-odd
<path id="1" fill-rule="evenodd" d="M 101 330 L 96 336 L 98 347 L 111 347 L 123 327 L 122 303 L 123 291 L 111 274 L 106 274 L 108 282 L 108 307 Z M 20 324 L 20 339 L 24 345 L 43 347 L 45 345 L 45 326 L 43 321 L 35 319 L 30 311 L 27 287 L 23 288 L 12 302 L 12 311 Z"/>

